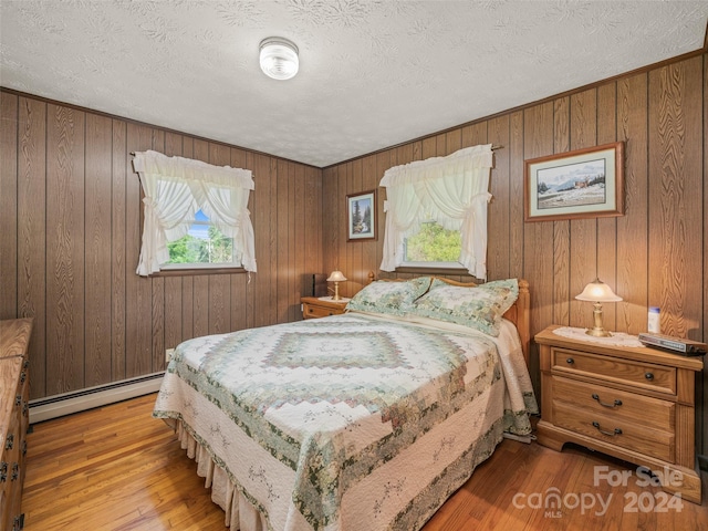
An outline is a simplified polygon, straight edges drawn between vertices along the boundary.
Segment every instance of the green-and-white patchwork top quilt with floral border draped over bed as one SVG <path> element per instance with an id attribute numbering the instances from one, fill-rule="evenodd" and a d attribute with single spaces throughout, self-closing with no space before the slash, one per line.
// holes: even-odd
<path id="1" fill-rule="evenodd" d="M 530 430 L 530 382 L 513 374 L 518 361 L 500 360 L 497 343 L 353 313 L 198 337 L 176 348 L 154 415 L 194 423 L 183 387 L 198 392 L 292 470 L 295 520 L 336 529 L 347 490 L 500 381 L 514 381 L 504 386 L 503 426 Z M 249 470 L 253 480 L 258 469 Z M 232 476 L 268 513 L 268 500 Z"/>

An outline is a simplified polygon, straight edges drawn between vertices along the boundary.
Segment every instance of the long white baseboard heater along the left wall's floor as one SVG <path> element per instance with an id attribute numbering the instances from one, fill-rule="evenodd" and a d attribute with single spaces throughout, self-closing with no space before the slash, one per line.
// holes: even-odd
<path id="1" fill-rule="evenodd" d="M 30 400 L 30 424 L 85 412 L 159 391 L 164 372 Z"/>

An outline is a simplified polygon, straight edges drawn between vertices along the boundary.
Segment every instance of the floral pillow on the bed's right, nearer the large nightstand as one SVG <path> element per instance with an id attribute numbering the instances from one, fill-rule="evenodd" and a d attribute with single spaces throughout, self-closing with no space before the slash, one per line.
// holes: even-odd
<path id="1" fill-rule="evenodd" d="M 518 296 L 517 279 L 496 280 L 473 288 L 435 279 L 430 291 L 416 301 L 412 313 L 498 336 L 501 316 Z"/>

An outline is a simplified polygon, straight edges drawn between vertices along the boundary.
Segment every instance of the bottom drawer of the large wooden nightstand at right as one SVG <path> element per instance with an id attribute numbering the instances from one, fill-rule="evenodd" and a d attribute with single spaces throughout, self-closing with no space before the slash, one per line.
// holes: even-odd
<path id="1" fill-rule="evenodd" d="M 562 402 L 553 403 L 553 424 L 593 439 L 638 451 L 645 456 L 674 461 L 674 434 L 612 415 L 580 409 Z"/>

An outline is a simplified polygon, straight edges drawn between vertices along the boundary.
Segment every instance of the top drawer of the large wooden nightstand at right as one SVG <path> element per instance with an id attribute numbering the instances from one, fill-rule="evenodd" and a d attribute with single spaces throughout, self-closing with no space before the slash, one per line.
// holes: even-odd
<path id="1" fill-rule="evenodd" d="M 676 368 L 618 357 L 551 348 L 551 371 L 596 377 L 631 386 L 676 395 Z"/>

